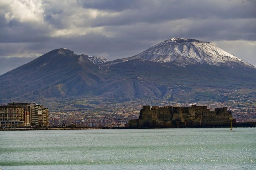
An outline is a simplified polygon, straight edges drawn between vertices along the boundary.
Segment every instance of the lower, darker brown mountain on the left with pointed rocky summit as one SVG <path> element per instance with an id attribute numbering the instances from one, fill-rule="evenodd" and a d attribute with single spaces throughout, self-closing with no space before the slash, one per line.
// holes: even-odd
<path id="1" fill-rule="evenodd" d="M 67 48 L 52 50 L 0 76 L 0 99 L 76 96 L 102 80 L 99 67 Z"/>

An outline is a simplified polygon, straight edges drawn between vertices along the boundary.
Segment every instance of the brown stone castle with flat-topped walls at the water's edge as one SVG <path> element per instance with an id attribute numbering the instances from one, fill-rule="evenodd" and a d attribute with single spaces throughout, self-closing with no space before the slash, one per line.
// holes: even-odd
<path id="1" fill-rule="evenodd" d="M 230 126 L 232 114 L 227 107 L 209 110 L 206 106 L 143 106 L 139 119 L 130 120 L 131 128 L 186 128 Z M 235 121 L 235 119 L 233 120 Z"/>

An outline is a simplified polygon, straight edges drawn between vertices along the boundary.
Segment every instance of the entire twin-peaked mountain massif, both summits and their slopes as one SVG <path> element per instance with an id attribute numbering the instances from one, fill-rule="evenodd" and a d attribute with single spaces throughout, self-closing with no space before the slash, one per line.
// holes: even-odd
<path id="1" fill-rule="evenodd" d="M 66 48 L 52 50 L 1 75 L 0 102 L 49 97 L 218 101 L 225 99 L 217 93 L 255 86 L 254 66 L 210 43 L 173 38 L 111 62 Z"/>

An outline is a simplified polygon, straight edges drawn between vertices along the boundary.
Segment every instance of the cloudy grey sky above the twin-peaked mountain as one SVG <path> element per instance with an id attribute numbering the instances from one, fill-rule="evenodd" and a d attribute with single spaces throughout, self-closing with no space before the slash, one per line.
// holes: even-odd
<path id="1" fill-rule="evenodd" d="M 174 37 L 256 66 L 256 0 L 0 0 L 0 75 L 57 48 L 112 61 Z"/>

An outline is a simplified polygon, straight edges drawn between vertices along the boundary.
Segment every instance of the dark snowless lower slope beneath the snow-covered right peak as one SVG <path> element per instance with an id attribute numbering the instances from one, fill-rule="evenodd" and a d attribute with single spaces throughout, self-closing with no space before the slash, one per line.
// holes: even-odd
<path id="1" fill-rule="evenodd" d="M 108 94 L 115 97 L 119 94 L 116 99 L 123 96 L 123 99 L 131 100 L 136 98 L 173 100 L 171 99 L 173 95 L 176 97 L 183 95 L 179 91 L 185 90 L 185 92 L 191 92 L 189 99 L 194 100 L 196 95 L 193 93 L 196 89 L 209 88 L 227 91 L 241 87 L 255 88 L 256 84 L 256 70 L 241 64 L 235 67 L 207 64 L 181 67 L 174 63 L 133 59 L 113 64 L 103 70 L 107 70 L 104 71 L 104 77 L 108 77 L 109 82 L 105 82 L 107 85 L 99 88 L 98 95 L 105 97 Z M 139 83 L 140 86 L 132 86 L 134 83 Z M 150 88 L 148 84 L 151 85 Z"/>

